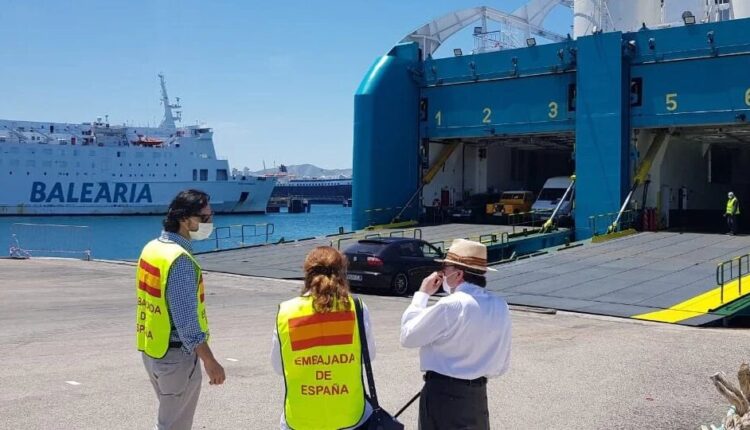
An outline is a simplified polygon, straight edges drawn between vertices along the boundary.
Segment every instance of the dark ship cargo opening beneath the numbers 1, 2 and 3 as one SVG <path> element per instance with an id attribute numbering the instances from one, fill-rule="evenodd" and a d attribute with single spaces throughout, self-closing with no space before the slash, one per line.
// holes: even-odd
<path id="1" fill-rule="evenodd" d="M 424 186 L 425 221 L 538 223 L 527 206 L 547 179 L 574 173 L 574 141 L 573 133 L 431 141 L 428 158 L 432 161 L 451 144 L 456 148 Z M 514 211 L 517 216 L 509 217 L 499 204 L 503 193 L 511 191 L 531 193 L 532 200 Z"/>

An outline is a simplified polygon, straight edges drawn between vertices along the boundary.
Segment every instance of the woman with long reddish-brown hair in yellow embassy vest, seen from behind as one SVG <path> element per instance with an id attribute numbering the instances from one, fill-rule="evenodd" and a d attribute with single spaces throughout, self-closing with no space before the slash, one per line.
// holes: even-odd
<path id="1" fill-rule="evenodd" d="M 346 281 L 346 257 L 330 246 L 307 254 L 299 297 L 279 305 L 271 364 L 284 376 L 279 428 L 334 430 L 365 428 L 372 407 L 365 400 L 362 344 Z M 362 306 L 370 360 L 375 342 Z"/>

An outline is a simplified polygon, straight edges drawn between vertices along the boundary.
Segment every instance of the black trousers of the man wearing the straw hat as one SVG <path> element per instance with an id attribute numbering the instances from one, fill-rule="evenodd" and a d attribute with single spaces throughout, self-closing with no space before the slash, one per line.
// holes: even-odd
<path id="1" fill-rule="evenodd" d="M 489 430 L 487 379 L 465 381 L 425 375 L 419 430 Z"/>

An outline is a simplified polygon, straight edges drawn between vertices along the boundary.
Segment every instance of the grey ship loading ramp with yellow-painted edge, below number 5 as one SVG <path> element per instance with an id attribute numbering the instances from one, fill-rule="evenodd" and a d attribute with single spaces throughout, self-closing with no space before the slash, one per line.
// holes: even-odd
<path id="1" fill-rule="evenodd" d="M 496 266 L 487 289 L 512 305 L 729 324 L 748 314 L 748 249 L 744 236 L 644 232 Z"/>

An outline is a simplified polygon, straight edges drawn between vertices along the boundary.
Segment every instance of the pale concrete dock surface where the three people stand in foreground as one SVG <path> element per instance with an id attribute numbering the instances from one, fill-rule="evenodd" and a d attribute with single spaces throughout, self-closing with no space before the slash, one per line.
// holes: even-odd
<path id="1" fill-rule="evenodd" d="M 501 267 L 502 271 L 503 268 Z M 0 273 L 0 428 L 146 429 L 156 400 L 135 350 L 129 264 L 4 260 Z M 276 306 L 299 281 L 207 273 L 212 348 L 227 382 L 204 378 L 195 429 L 278 428 L 283 383 L 269 362 Z M 416 350 L 398 343 L 408 298 L 366 296 L 382 403 L 421 386 Z M 512 311 L 510 371 L 488 384 L 493 428 L 696 429 L 727 405 L 708 377 L 750 360 L 746 330 L 700 329 L 574 313 Z M 402 415 L 416 429 L 417 408 Z"/>

